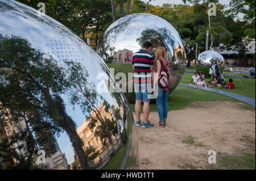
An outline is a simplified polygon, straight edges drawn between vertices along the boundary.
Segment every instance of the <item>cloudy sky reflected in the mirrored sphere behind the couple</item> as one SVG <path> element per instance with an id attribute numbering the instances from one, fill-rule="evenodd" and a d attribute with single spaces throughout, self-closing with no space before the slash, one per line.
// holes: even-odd
<path id="1" fill-rule="evenodd" d="M 177 44 L 182 45 L 179 33 L 175 28 L 166 20 L 151 14 L 131 14 L 118 19 L 106 30 L 105 36 L 107 36 L 109 47 L 114 47 L 115 52 L 129 49 L 135 53 L 141 49 L 137 39 L 141 37 L 143 31 L 150 29 L 161 34 L 162 28 L 168 31 L 168 35 L 163 36 L 164 44 L 168 46 L 168 49 L 172 50 Z M 174 45 L 168 43 L 168 39 L 169 41 L 172 39 Z M 106 50 L 106 53 L 110 54 L 110 50 Z"/>

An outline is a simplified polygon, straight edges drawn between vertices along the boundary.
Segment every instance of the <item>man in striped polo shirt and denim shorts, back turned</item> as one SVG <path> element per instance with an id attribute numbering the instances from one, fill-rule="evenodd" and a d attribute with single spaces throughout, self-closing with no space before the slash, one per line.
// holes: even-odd
<path id="1" fill-rule="evenodd" d="M 144 41 L 143 49 L 133 55 L 134 69 L 134 90 L 136 94 L 135 113 L 137 117 L 136 125 L 141 126 L 141 103 L 143 100 L 143 124 L 142 128 L 150 128 L 154 124 L 148 121 L 150 111 L 150 99 L 148 98 L 148 88 L 151 88 L 151 71 L 154 71 L 154 56 L 150 53 L 152 43 Z"/>

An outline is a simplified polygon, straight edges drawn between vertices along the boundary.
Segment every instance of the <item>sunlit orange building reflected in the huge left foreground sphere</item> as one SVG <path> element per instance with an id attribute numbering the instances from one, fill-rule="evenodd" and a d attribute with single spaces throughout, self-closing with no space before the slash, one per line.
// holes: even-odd
<path id="1" fill-rule="evenodd" d="M 110 121 L 115 121 L 113 120 L 112 108 L 110 108 L 108 112 L 106 112 L 105 108 L 106 108 L 106 105 L 104 105 L 104 103 L 101 102 L 101 107 L 96 106 L 94 108 L 94 111 L 98 110 L 96 112 L 99 112 L 99 114 L 102 117 L 104 117 L 104 121 L 106 121 L 107 119 Z M 84 123 L 82 123 L 80 127 L 77 128 L 77 134 L 79 135 L 79 137 L 81 138 L 81 141 L 84 144 L 83 148 L 85 149 L 86 147 L 89 147 L 89 148 L 93 147 L 95 151 L 99 151 L 100 153 L 100 155 L 98 155 L 98 157 L 95 158 L 93 162 L 90 163 L 92 167 L 100 163 L 100 158 L 102 159 L 102 161 L 105 161 L 113 154 L 112 145 L 110 145 L 109 141 L 107 140 L 106 146 L 104 146 L 103 142 L 101 141 L 101 138 L 95 135 L 96 128 L 98 126 L 101 126 L 101 122 L 98 120 L 96 113 L 94 111 L 90 112 L 90 115 L 84 121 Z M 120 109 L 119 113 L 120 115 L 122 115 L 123 110 Z M 89 126 L 91 119 L 97 120 L 95 127 L 92 130 L 90 130 L 90 126 Z M 117 150 L 119 146 L 121 146 L 121 138 L 118 132 L 115 135 L 112 135 L 112 141 L 115 146 L 115 150 Z"/>

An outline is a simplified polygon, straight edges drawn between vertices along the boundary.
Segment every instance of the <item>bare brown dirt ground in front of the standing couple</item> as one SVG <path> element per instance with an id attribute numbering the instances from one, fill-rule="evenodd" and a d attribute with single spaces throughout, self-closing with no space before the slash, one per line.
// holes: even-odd
<path id="1" fill-rule="evenodd" d="M 154 127 L 137 127 L 139 169 L 209 169 L 209 150 L 217 158 L 222 153 L 255 153 L 254 111 L 231 101 L 192 105 L 169 111 L 166 128 L 159 127 L 157 112 L 150 113 Z M 254 140 L 253 145 L 245 138 Z"/>

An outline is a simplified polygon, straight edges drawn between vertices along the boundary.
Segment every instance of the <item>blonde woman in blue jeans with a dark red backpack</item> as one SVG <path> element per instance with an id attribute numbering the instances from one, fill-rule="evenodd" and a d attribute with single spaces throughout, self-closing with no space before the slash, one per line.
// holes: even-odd
<path id="1" fill-rule="evenodd" d="M 158 47 L 155 53 L 156 67 L 155 73 L 156 77 L 154 79 L 154 92 L 158 91 L 158 96 L 156 98 L 156 104 L 158 108 L 159 115 L 159 125 L 160 127 L 166 127 L 166 119 L 168 113 L 168 93 L 170 86 L 169 84 L 166 87 L 161 88 L 159 86 L 159 76 L 162 71 L 165 71 L 168 74 L 168 78 L 170 75 L 170 63 L 166 60 L 166 49 L 164 47 Z M 156 87 L 158 89 L 156 89 Z"/>

